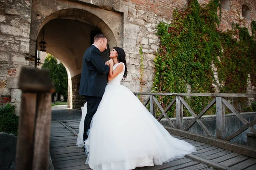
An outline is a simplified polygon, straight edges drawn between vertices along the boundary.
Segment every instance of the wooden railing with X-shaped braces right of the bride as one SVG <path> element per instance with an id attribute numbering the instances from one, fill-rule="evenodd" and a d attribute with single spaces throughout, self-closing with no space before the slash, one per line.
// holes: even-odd
<path id="1" fill-rule="evenodd" d="M 169 123 L 170 127 L 180 129 L 180 130 L 189 130 L 195 122 L 197 122 L 204 132 L 209 137 L 213 137 L 204 123 L 200 120 L 200 118 L 209 110 L 214 104 L 216 105 L 216 137 L 218 139 L 224 139 L 226 141 L 230 141 L 231 139 L 235 138 L 237 135 L 241 134 L 248 128 L 250 131 L 256 135 L 256 129 L 253 127 L 256 124 L 256 119 L 253 121 L 248 122 L 242 115 L 235 109 L 235 107 L 230 104 L 225 97 L 234 97 L 234 98 L 248 98 L 248 97 L 256 97 L 256 94 L 235 94 L 235 93 L 134 93 L 135 95 L 149 95 L 148 99 L 145 101 L 144 106 L 150 103 L 150 112 L 155 117 L 155 105 L 160 109 L 161 115 L 157 119 L 160 121 L 163 117 L 166 118 L 167 122 Z M 157 101 L 156 95 L 172 95 L 175 98 L 171 101 L 171 103 L 164 109 L 160 102 Z M 184 96 L 211 96 L 214 97 L 212 101 L 205 107 L 198 115 L 193 111 L 193 109 L 187 104 L 187 102 L 183 99 Z M 175 126 L 168 115 L 166 114 L 169 109 L 176 103 L 176 124 Z M 189 111 L 189 113 L 194 117 L 194 119 L 189 123 L 188 126 L 184 127 L 183 124 L 183 106 Z M 238 131 L 231 134 L 230 136 L 226 136 L 226 124 L 225 124 L 225 107 L 229 108 L 236 117 L 241 120 L 244 124 Z"/>

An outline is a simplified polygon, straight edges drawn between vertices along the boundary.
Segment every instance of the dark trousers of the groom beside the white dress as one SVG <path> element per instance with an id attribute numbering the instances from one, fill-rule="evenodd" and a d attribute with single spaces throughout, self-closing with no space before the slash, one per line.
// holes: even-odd
<path id="1" fill-rule="evenodd" d="M 87 101 L 87 114 L 84 119 L 84 141 L 88 138 L 87 132 L 90 129 L 90 123 L 92 121 L 93 115 L 98 109 L 102 97 L 85 96 L 85 100 Z"/>

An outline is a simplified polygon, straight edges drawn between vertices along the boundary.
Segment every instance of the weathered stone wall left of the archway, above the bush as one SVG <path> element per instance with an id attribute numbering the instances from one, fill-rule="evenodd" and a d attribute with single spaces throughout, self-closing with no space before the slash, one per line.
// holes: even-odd
<path id="1" fill-rule="evenodd" d="M 0 107 L 6 103 L 20 108 L 17 81 L 29 61 L 29 34 L 32 0 L 0 0 Z"/>

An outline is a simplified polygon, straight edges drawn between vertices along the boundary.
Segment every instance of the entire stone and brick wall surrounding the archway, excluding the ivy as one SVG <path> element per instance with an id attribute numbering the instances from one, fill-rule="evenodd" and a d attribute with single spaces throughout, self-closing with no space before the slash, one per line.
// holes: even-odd
<path id="1" fill-rule="evenodd" d="M 210 0 L 198 0 L 202 5 Z M 99 28 L 108 37 L 110 48 L 123 47 L 127 54 L 128 76 L 123 85 L 133 92 L 150 92 L 154 78 L 154 52 L 159 48 L 157 24 L 171 23 L 175 9 L 183 10 L 188 0 L 0 0 L 0 106 L 11 102 L 20 106 L 17 87 L 21 66 L 34 66 L 35 40 L 43 26 L 55 18 L 83 20 Z M 220 30 L 232 23 L 246 26 L 256 20 L 255 0 L 221 0 Z M 242 16 L 242 5 L 249 17 Z M 86 16 L 86 17 L 84 17 Z M 140 48 L 142 54 L 140 55 Z M 82 57 L 82 56 L 81 56 Z M 143 59 L 143 70 L 140 59 Z M 31 60 L 31 61 L 29 61 Z M 69 58 L 72 61 L 74 58 Z M 78 70 L 70 66 L 70 69 Z M 143 74 L 141 75 L 141 72 Z M 77 92 L 79 74 L 72 81 L 73 108 L 83 98 Z M 71 82 L 70 82 L 71 84 Z M 71 90 L 69 90 L 69 94 Z M 80 101 L 81 100 L 81 101 Z"/>

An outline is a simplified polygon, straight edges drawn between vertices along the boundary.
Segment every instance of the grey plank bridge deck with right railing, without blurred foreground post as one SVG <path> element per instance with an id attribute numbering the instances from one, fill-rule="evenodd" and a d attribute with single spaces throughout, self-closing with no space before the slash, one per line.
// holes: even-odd
<path id="1" fill-rule="evenodd" d="M 184 158 L 175 160 L 154 167 L 138 167 L 141 170 L 256 170 L 256 149 L 240 144 L 229 142 L 232 138 L 249 128 L 254 132 L 253 124 L 256 120 L 247 122 L 246 119 L 226 100 L 224 97 L 248 97 L 248 94 L 177 94 L 177 93 L 135 93 L 135 95 L 149 95 L 145 106 L 150 103 L 150 110 L 155 115 L 155 104 L 160 108 L 162 115 L 158 118 L 165 117 L 170 127 L 165 127 L 175 138 L 182 139 L 193 144 L 197 153 L 186 155 Z M 157 101 L 155 95 L 175 95 L 173 101 L 164 110 Z M 213 96 L 214 98 L 203 111 L 196 115 L 189 105 L 184 101 L 182 96 Z M 170 121 L 166 112 L 176 103 L 177 125 Z M 216 104 L 217 112 L 217 138 L 207 130 L 206 126 L 200 121 L 204 113 Z M 183 128 L 183 106 L 195 117 L 188 127 Z M 225 106 L 227 106 L 236 116 L 244 123 L 236 133 L 226 137 L 225 133 Z M 218 116 L 219 114 L 219 116 Z M 188 130 L 195 122 L 198 122 L 208 136 L 190 133 Z M 73 121 L 54 121 L 52 122 L 50 134 L 50 154 L 55 169 L 60 170 L 90 170 L 85 165 L 87 156 L 84 155 L 83 148 L 76 146 L 76 135 L 79 132 L 80 120 Z M 224 139 L 224 140 L 223 140 Z"/>

